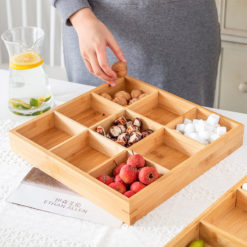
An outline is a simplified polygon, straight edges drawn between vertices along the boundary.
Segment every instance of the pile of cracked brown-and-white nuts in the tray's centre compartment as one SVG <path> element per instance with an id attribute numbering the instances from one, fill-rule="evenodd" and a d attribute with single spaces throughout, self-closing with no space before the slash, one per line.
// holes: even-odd
<path id="1" fill-rule="evenodd" d="M 142 138 L 153 133 L 153 130 L 143 130 L 142 127 L 142 121 L 140 118 L 126 120 L 124 116 L 121 116 L 113 122 L 113 125 L 110 127 L 108 133 L 106 133 L 104 128 L 101 126 L 96 128 L 96 132 L 106 136 L 122 146 L 130 147 L 136 142 L 139 142 Z"/>

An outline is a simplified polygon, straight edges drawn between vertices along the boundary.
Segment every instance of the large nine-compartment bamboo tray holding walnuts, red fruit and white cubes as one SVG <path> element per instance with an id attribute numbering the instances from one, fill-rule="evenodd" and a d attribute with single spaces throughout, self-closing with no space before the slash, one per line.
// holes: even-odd
<path id="1" fill-rule="evenodd" d="M 203 145 L 178 133 L 176 124 L 185 117 L 206 119 L 212 111 L 128 75 L 118 78 L 116 84 L 102 84 L 18 126 L 9 136 L 18 155 L 121 221 L 133 224 L 240 147 L 244 127 L 220 116 L 227 133 Z M 141 89 L 148 95 L 125 107 L 99 95 L 123 89 Z M 139 117 L 155 131 L 130 148 L 95 132 L 96 126 L 107 128 L 120 115 Z M 163 176 L 127 198 L 96 177 L 110 173 L 114 160 L 126 161 L 130 151 L 142 154 Z"/>

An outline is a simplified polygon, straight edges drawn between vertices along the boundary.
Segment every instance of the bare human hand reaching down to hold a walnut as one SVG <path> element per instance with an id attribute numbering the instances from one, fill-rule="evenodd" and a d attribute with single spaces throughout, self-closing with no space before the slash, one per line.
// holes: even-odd
<path id="1" fill-rule="evenodd" d="M 108 63 L 106 47 L 120 61 L 126 62 L 126 59 L 112 33 L 89 8 L 77 11 L 70 21 L 77 32 L 81 56 L 89 72 L 114 86 L 117 76 Z"/>

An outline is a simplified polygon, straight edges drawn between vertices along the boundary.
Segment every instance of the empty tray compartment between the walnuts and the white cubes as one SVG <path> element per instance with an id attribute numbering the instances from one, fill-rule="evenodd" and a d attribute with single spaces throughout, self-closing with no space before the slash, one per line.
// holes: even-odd
<path id="1" fill-rule="evenodd" d="M 150 97 L 146 98 L 145 102 L 138 101 L 129 106 L 131 110 L 162 125 L 166 125 L 194 107 L 193 103 L 189 103 L 163 90 L 150 95 Z"/>

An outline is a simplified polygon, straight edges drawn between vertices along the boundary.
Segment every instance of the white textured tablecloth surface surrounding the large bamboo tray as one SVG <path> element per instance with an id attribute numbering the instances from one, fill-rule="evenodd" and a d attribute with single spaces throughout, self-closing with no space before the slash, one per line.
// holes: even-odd
<path id="1" fill-rule="evenodd" d="M 28 118 L 7 110 L 8 73 L 0 70 L 0 246 L 160 247 L 247 174 L 247 143 L 140 219 L 134 226 L 110 228 L 9 204 L 5 199 L 31 169 L 10 151 L 7 130 Z M 56 103 L 91 89 L 50 79 Z M 247 114 L 215 110 L 247 126 Z"/>

